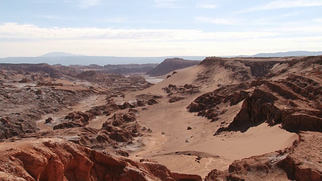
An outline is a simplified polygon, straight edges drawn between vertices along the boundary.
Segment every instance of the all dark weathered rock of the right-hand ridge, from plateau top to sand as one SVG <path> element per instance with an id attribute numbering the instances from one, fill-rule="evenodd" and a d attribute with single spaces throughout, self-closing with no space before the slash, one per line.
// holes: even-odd
<path id="1" fill-rule="evenodd" d="M 322 77 L 318 73 L 322 69 L 322 56 L 285 61 L 239 60 L 239 64 L 233 61 L 237 60 L 206 58 L 201 65 L 211 67 L 219 64 L 225 69 L 231 69 L 232 75 L 243 68 L 240 65 L 243 63 L 251 67 L 252 74 L 258 76 L 258 79 L 220 85 L 220 88 L 199 96 L 187 107 L 190 112 L 198 112 L 198 116 L 217 121 L 223 111 L 227 110 L 226 107 L 232 108 L 243 101 L 235 118 L 227 123 L 228 126 L 222 125 L 216 135 L 222 131 L 245 132 L 264 122 L 270 126 L 281 124 L 283 129 L 290 132 L 322 131 Z M 284 67 L 283 71 L 278 71 L 276 67 L 279 65 Z M 277 70 L 273 71 L 273 67 Z M 271 79 L 274 76 L 277 78 Z"/>

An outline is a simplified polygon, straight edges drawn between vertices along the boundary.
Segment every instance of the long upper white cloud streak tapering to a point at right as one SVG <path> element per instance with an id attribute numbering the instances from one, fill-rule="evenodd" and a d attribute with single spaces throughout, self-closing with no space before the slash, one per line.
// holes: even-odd
<path id="1" fill-rule="evenodd" d="M 29 24 L 0 24 L 0 40 L 128 39 L 137 41 L 238 39 L 281 35 L 271 32 L 203 32 L 201 30 L 40 28 Z"/>

